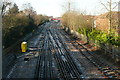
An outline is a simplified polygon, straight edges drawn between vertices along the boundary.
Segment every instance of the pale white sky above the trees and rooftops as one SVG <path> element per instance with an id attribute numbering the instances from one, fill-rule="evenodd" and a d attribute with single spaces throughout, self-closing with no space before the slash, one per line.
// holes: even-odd
<path id="1" fill-rule="evenodd" d="M 20 9 L 25 3 L 30 3 L 38 14 L 45 14 L 48 16 L 61 16 L 67 8 L 69 0 L 4 0 L 15 2 Z M 99 0 L 70 0 L 71 8 L 87 14 L 101 14 L 105 8 L 99 3 Z M 108 0 L 101 0 L 103 3 Z M 120 0 L 113 0 L 118 2 Z"/>

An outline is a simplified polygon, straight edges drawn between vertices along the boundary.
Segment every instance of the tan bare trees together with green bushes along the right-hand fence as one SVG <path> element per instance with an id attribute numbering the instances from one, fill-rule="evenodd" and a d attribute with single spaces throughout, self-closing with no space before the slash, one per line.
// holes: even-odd
<path id="1" fill-rule="evenodd" d="M 98 45 L 110 44 L 120 46 L 120 35 L 116 35 L 115 31 L 106 33 L 93 28 L 93 22 L 94 16 L 86 15 L 77 11 L 67 11 L 62 15 L 62 26 L 86 36 L 87 43 L 92 41 Z"/>

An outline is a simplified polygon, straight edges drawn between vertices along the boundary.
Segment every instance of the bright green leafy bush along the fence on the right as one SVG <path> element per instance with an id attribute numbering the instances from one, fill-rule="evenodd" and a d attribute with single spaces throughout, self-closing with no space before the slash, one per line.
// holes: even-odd
<path id="1" fill-rule="evenodd" d="M 84 28 L 85 29 L 85 28 Z M 104 44 L 112 44 L 115 46 L 120 46 L 120 37 L 116 36 L 115 34 L 107 34 L 105 32 L 102 32 L 100 30 L 93 30 L 90 31 L 88 30 L 84 30 L 87 31 L 87 34 L 84 34 L 82 31 L 79 29 L 79 33 L 83 34 L 83 35 L 87 35 L 91 40 L 97 40 L 98 44 L 104 43 Z"/>

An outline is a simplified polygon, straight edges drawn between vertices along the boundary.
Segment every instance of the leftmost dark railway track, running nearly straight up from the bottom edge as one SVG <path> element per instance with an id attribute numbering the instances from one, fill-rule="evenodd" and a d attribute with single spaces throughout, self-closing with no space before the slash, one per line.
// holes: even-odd
<path id="1" fill-rule="evenodd" d="M 43 39 L 40 40 L 43 44 L 39 44 L 42 46 L 36 65 L 35 80 L 55 80 L 58 79 L 58 76 L 56 74 L 55 61 L 50 48 L 52 43 L 50 43 L 48 29 L 43 31 L 43 36 Z"/>

